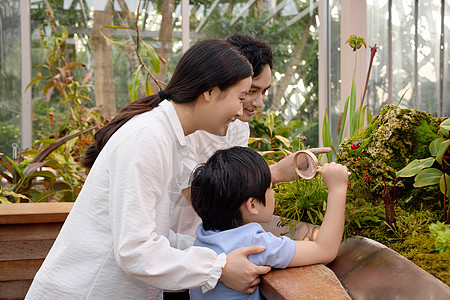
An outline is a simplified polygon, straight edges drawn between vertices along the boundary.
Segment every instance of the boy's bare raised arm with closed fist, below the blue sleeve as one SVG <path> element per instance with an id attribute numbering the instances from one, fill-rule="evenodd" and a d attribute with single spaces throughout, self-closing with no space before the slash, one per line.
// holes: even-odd
<path id="1" fill-rule="evenodd" d="M 289 267 L 329 263 L 339 250 L 345 221 L 347 168 L 335 163 L 325 164 L 321 173 L 328 187 L 324 220 L 314 241 L 296 241 L 294 258 Z"/>

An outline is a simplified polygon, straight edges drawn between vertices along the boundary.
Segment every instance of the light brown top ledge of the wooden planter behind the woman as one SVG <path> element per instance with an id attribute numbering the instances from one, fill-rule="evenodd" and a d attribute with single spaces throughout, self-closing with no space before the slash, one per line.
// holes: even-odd
<path id="1" fill-rule="evenodd" d="M 64 222 L 73 202 L 14 203 L 0 205 L 0 224 Z"/>

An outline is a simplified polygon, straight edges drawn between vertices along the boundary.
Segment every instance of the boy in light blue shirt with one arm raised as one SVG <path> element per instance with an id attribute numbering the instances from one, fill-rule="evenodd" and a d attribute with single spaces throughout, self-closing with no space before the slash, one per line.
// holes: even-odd
<path id="1" fill-rule="evenodd" d="M 201 217 L 194 246 L 229 253 L 249 245 L 266 250 L 248 258 L 256 265 L 275 268 L 331 262 L 337 254 L 344 228 L 348 175 L 345 166 L 330 163 L 321 170 L 328 187 L 327 212 L 314 241 L 275 237 L 256 222 L 269 222 L 275 200 L 270 169 L 256 151 L 247 147 L 218 150 L 192 175 L 191 199 Z M 206 293 L 190 290 L 191 299 L 260 299 L 232 290 L 220 282 Z"/>

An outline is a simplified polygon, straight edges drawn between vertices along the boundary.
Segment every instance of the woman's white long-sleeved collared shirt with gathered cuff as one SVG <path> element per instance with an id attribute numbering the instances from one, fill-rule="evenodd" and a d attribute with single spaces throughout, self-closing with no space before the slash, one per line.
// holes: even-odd
<path id="1" fill-rule="evenodd" d="M 189 247 L 191 237 L 169 229 L 186 151 L 168 101 L 124 124 L 98 156 L 26 299 L 162 299 L 160 289 L 214 287 L 225 255 Z"/>

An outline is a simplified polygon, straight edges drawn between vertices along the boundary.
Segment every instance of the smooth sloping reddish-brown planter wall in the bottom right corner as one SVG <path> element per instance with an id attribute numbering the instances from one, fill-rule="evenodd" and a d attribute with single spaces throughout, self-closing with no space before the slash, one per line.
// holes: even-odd
<path id="1" fill-rule="evenodd" d="M 328 265 L 352 299 L 450 299 L 450 287 L 397 252 L 356 237 Z"/>

